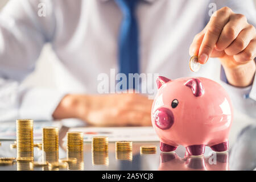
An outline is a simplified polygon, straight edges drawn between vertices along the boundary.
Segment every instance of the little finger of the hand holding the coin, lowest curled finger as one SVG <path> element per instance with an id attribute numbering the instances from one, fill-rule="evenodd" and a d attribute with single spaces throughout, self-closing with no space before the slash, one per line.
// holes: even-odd
<path id="1" fill-rule="evenodd" d="M 237 55 L 234 55 L 234 60 L 238 63 L 246 63 L 253 60 L 256 56 L 256 39 L 251 40 L 249 45 Z"/>

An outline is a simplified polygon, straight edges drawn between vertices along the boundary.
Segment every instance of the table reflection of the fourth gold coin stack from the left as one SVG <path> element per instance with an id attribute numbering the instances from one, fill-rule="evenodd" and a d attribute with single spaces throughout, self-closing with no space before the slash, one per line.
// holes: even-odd
<path id="1" fill-rule="evenodd" d="M 92 164 L 109 166 L 108 151 L 92 151 Z"/>

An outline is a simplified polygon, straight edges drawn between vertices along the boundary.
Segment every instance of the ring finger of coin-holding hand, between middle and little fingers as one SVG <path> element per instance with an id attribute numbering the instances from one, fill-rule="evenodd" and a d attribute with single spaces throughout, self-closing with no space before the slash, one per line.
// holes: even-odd
<path id="1" fill-rule="evenodd" d="M 242 52 L 249 45 L 250 41 L 254 39 L 254 35 L 255 28 L 251 25 L 247 26 L 240 32 L 236 40 L 225 49 L 225 53 L 229 56 L 233 56 Z"/>

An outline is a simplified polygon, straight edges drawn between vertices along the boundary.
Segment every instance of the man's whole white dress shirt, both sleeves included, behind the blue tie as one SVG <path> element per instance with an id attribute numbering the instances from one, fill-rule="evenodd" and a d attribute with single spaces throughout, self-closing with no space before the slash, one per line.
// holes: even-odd
<path id="1" fill-rule="evenodd" d="M 46 5 L 46 16 L 38 11 Z M 210 9 L 230 7 L 255 26 L 253 1 L 141 0 L 137 7 L 141 73 L 171 79 L 207 77 L 220 82 L 234 106 L 256 117 L 256 84 L 226 83 L 220 61 L 209 59 L 199 72 L 189 70 L 188 49 L 209 21 Z M 52 119 L 67 93 L 97 94 L 100 73 L 118 72 L 118 35 L 122 13 L 113 0 L 11 0 L 0 14 L 0 121 Z M 25 88 L 45 43 L 51 43 L 61 67 L 57 89 Z M 46 72 L 47 74 L 47 72 Z M 216 79 L 218 75 L 218 79 Z M 154 83 L 152 83 L 154 84 Z"/>

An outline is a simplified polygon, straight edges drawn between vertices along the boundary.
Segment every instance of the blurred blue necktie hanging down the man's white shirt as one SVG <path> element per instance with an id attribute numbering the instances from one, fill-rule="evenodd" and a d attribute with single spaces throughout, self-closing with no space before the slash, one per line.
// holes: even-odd
<path id="1" fill-rule="evenodd" d="M 129 89 L 128 74 L 139 73 L 138 26 L 135 17 L 137 1 L 138 0 L 115 0 L 123 14 L 119 30 L 118 60 L 119 73 L 125 73 L 127 77 L 127 89 Z M 130 89 L 134 88 L 135 84 L 130 85 Z"/>

